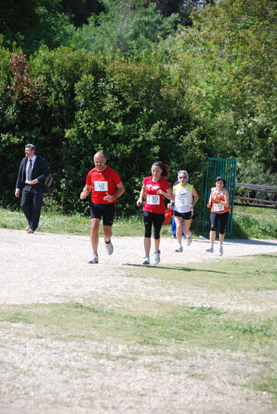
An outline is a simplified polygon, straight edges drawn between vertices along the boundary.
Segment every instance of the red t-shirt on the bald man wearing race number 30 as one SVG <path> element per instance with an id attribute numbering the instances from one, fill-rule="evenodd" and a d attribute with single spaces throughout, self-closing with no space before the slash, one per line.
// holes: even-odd
<path id="1" fill-rule="evenodd" d="M 111 204 L 104 200 L 107 194 L 114 195 L 117 191 L 116 186 L 121 183 L 118 173 L 112 168 L 106 166 L 105 170 L 98 171 L 96 167 L 88 173 L 85 184 L 92 186 L 92 203 Z M 115 203 L 114 199 L 112 203 Z"/>

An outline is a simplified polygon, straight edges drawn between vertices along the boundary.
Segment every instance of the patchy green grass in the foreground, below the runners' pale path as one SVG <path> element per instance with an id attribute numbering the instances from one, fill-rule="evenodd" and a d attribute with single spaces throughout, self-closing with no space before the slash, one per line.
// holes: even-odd
<path id="1" fill-rule="evenodd" d="M 121 278 L 128 278 L 125 290 L 115 284 L 78 302 L 2 306 L 1 329 L 17 338 L 76 346 L 130 346 L 137 360 L 153 354 L 183 359 L 188 350 L 196 357 L 211 351 L 230 359 L 243 355 L 244 364 L 256 367 L 243 386 L 270 393 L 277 402 L 276 262 L 277 254 L 271 254 L 225 259 L 220 268 L 152 266 L 147 275 L 142 266 L 121 268 Z M 140 281 L 139 290 L 130 277 Z"/>

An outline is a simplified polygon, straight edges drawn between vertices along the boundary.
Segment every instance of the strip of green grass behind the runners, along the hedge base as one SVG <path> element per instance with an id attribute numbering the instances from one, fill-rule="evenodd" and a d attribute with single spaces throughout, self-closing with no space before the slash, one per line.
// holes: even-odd
<path id="1" fill-rule="evenodd" d="M 276 212 L 277 210 L 235 206 L 232 235 L 227 237 L 239 239 L 277 238 Z M 0 228 L 21 230 L 25 226 L 26 220 L 21 211 L 0 208 Z M 209 237 L 209 235 L 203 234 L 199 217 L 192 221 L 191 228 L 194 236 L 205 235 Z M 90 217 L 81 214 L 63 215 L 59 210 L 49 208 L 42 211 L 37 231 L 87 236 L 90 234 Z M 116 217 L 113 234 L 115 236 L 143 236 L 144 226 L 141 214 L 127 218 Z M 161 236 L 171 236 L 171 223 L 163 226 Z"/>

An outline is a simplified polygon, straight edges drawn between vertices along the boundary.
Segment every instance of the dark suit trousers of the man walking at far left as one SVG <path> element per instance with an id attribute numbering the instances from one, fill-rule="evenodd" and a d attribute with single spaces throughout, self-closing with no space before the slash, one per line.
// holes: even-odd
<path id="1" fill-rule="evenodd" d="M 34 186 L 25 185 L 22 191 L 21 208 L 32 230 L 37 230 L 39 217 L 41 217 L 41 206 L 43 201 L 43 190 L 40 184 Z"/>

